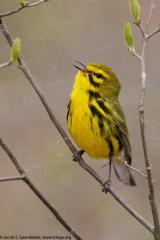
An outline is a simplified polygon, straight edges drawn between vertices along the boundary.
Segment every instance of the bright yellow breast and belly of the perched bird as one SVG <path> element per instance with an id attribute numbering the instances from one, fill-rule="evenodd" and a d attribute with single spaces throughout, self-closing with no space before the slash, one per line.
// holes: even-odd
<path id="1" fill-rule="evenodd" d="M 84 89 L 75 88 L 72 91 L 68 104 L 69 132 L 79 148 L 89 156 L 109 158 L 111 151 L 113 155 L 117 154 L 118 141 L 111 135 L 107 120 L 102 124 L 98 116 L 93 116 L 91 105 L 98 108 L 94 100 L 89 101 L 89 96 Z M 102 112 L 101 109 L 99 111 Z"/>

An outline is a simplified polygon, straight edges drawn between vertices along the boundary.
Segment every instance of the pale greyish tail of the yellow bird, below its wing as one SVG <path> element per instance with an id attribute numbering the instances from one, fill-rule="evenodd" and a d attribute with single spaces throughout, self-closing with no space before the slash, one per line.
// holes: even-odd
<path id="1" fill-rule="evenodd" d="M 113 161 L 114 170 L 119 181 L 126 185 L 136 186 L 136 182 L 130 172 L 130 169 L 122 162 Z"/>

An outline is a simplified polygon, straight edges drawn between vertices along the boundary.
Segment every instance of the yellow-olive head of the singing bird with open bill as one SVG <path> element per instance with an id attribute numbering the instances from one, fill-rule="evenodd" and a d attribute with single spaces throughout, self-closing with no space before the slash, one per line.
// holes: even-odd
<path id="1" fill-rule="evenodd" d="M 74 66 L 79 69 L 76 75 L 75 87 L 97 91 L 102 97 L 114 99 L 120 92 L 121 85 L 111 68 L 97 62 L 84 65 L 76 61 Z"/>

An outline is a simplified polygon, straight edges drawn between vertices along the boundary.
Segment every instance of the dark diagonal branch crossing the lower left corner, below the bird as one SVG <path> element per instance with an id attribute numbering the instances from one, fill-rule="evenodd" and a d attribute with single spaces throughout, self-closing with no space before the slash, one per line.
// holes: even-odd
<path id="1" fill-rule="evenodd" d="M 69 231 L 69 233 L 75 237 L 77 240 L 83 240 L 83 238 L 64 220 L 64 218 L 60 215 L 60 213 L 56 210 L 56 208 L 51 204 L 44 195 L 38 190 L 38 188 L 34 185 L 31 179 L 27 176 L 26 171 L 19 163 L 17 158 L 14 156 L 12 151 L 6 145 L 6 143 L 0 138 L 0 146 L 9 156 L 11 161 L 13 162 L 14 166 L 16 167 L 17 171 L 22 175 L 22 180 L 28 185 L 28 187 L 35 193 L 35 195 L 45 204 L 45 206 L 54 214 L 57 220 Z M 17 178 L 17 177 L 16 177 Z M 17 180 L 17 179 L 12 179 Z"/>

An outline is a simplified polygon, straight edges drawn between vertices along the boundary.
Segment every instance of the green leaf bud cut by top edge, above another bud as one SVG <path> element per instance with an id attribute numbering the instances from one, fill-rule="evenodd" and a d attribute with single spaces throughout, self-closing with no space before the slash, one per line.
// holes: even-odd
<path id="1" fill-rule="evenodd" d="M 140 12 L 141 12 L 141 6 L 137 0 L 129 0 L 129 7 L 130 11 L 133 15 L 134 22 L 136 24 L 140 23 Z"/>

